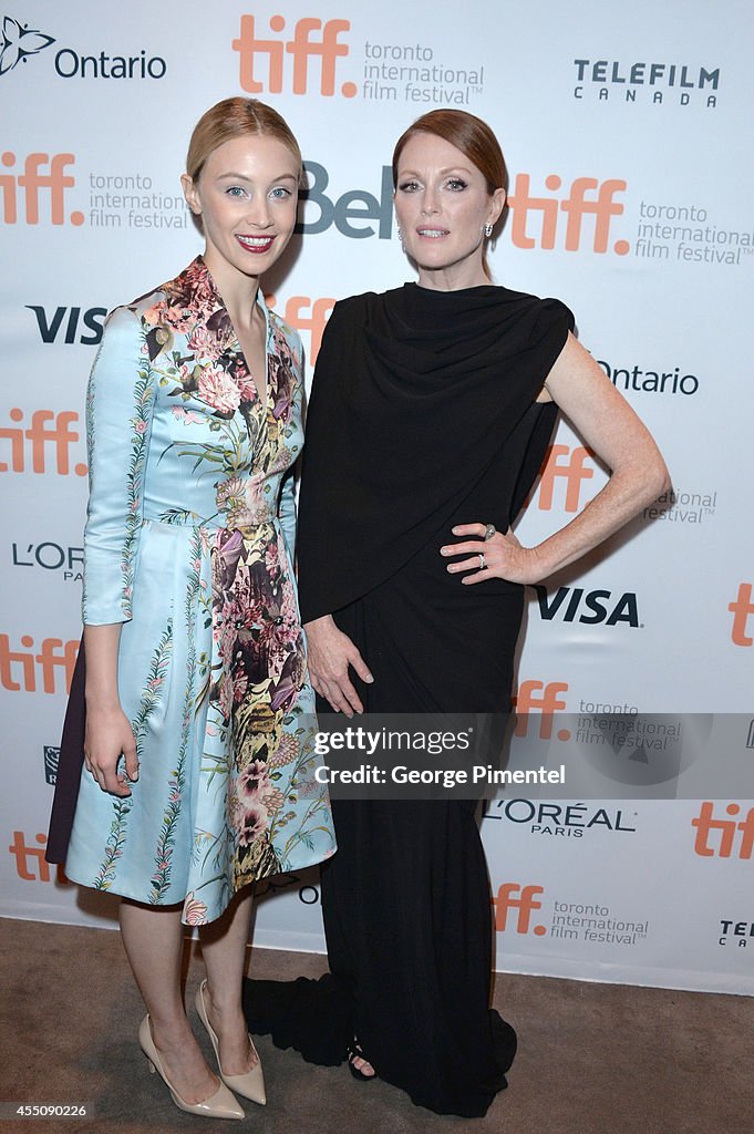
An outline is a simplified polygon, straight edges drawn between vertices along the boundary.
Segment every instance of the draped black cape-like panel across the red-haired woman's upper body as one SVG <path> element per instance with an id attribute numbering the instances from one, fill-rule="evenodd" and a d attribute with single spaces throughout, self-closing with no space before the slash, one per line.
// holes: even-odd
<path id="1" fill-rule="evenodd" d="M 443 527 L 531 407 L 571 327 L 558 301 L 492 286 L 407 284 L 336 305 L 304 449 L 304 621 L 372 591 Z M 553 414 L 540 423 L 545 442 Z"/>

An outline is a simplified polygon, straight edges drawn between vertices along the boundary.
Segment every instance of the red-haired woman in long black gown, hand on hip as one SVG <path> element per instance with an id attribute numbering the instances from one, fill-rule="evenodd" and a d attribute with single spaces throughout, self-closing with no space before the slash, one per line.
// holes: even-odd
<path id="1" fill-rule="evenodd" d="M 485 249 L 506 169 L 489 126 L 459 110 L 424 115 L 396 146 L 393 177 L 418 282 L 337 304 L 308 413 L 298 556 L 312 682 L 320 708 L 348 717 L 500 713 L 523 584 L 612 534 L 668 474 L 571 335 L 570 312 L 492 285 Z M 567 526 L 525 548 L 511 525 L 558 408 L 611 476 Z M 516 1038 L 489 1008 L 475 801 L 333 811 L 339 850 L 322 877 L 331 976 L 314 1034 L 294 1042 L 321 1061 L 348 1046 L 355 1074 L 441 1114 L 483 1115 Z"/>

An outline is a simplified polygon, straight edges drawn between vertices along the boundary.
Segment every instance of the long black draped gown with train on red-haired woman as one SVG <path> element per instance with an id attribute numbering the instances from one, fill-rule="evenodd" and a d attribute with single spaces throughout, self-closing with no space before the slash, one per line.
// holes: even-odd
<path id="1" fill-rule="evenodd" d="M 556 408 L 535 398 L 573 327 L 557 301 L 416 285 L 336 306 L 316 366 L 299 508 L 303 620 L 332 613 L 373 713 L 505 713 L 524 589 L 447 572 L 451 527 L 506 531 Z M 353 675 L 351 675 L 353 676 Z M 327 711 L 328 706 L 319 706 Z M 249 982 L 253 1031 L 379 1076 L 439 1114 L 484 1115 L 516 1034 L 491 1010 L 490 885 L 475 801 L 334 801 L 322 870 L 330 975 Z"/>

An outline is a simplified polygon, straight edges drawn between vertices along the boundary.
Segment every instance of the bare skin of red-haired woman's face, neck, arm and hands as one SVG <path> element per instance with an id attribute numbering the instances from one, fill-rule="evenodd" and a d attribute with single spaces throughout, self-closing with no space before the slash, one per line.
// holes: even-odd
<path id="1" fill-rule="evenodd" d="M 494 225 L 505 200 L 505 191 L 490 193 L 480 170 L 450 143 L 426 133 L 407 142 L 395 206 L 421 287 L 448 291 L 490 284 L 483 265 L 484 226 Z M 447 569 L 459 575 L 459 586 L 483 585 L 490 578 L 540 583 L 608 539 L 669 488 L 668 471 L 650 432 L 573 335 L 536 400 L 557 403 L 609 468 L 610 480 L 569 524 L 532 548 L 523 547 L 511 531 L 485 541 L 483 516 L 454 527 L 438 553 L 454 560 Z M 451 536 L 459 539 L 454 542 Z M 305 628 L 314 688 L 336 712 L 349 718 L 362 713 L 350 670 L 367 683 L 373 677 L 358 649 L 331 615 Z"/>

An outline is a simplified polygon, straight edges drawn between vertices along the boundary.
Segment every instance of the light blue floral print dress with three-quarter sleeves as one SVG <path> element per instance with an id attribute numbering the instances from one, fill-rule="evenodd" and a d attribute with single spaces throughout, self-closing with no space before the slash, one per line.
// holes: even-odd
<path id="1" fill-rule="evenodd" d="M 87 395 L 84 623 L 121 624 L 139 775 L 117 798 L 82 773 L 66 873 L 188 924 L 334 850 L 293 574 L 300 345 L 264 313 L 266 412 L 201 257 L 110 315 Z"/>

